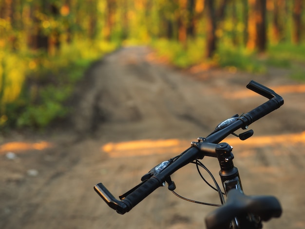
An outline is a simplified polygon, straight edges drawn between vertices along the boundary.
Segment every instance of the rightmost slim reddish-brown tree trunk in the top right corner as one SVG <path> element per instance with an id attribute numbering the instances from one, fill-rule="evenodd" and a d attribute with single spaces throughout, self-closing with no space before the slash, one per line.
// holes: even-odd
<path id="1" fill-rule="evenodd" d="M 303 0 L 294 0 L 294 2 L 293 2 L 293 32 L 292 32 L 292 42 L 294 44 L 300 44 L 300 41 L 301 41 L 302 2 L 303 2 Z"/>

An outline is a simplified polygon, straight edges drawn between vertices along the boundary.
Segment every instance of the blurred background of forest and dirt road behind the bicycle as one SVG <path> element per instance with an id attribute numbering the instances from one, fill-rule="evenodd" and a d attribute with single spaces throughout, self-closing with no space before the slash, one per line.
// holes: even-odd
<path id="1" fill-rule="evenodd" d="M 304 31 L 304 0 L 0 0 L 0 228 L 205 228 L 213 208 L 170 191 L 121 216 L 93 186 L 118 196 L 265 102 L 250 79 L 285 104 L 228 138 L 234 163 L 247 194 L 281 200 L 267 229 L 305 228 Z M 173 180 L 219 202 L 193 167 Z"/>

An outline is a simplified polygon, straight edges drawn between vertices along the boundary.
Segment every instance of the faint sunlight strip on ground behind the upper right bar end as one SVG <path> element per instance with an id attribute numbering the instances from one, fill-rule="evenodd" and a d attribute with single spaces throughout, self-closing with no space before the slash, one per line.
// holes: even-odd
<path id="1" fill-rule="evenodd" d="M 272 87 L 272 90 L 274 90 L 279 95 L 288 94 L 288 93 L 305 93 L 305 84 L 277 86 L 277 87 Z M 230 98 L 230 99 L 254 97 L 254 96 L 261 96 L 261 95 L 254 93 L 249 89 L 225 94 L 225 98 Z"/>

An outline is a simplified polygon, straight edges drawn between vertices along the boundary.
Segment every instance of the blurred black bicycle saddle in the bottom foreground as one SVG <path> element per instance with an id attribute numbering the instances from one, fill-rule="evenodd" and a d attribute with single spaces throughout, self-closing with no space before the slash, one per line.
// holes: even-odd
<path id="1" fill-rule="evenodd" d="M 272 217 L 280 217 L 282 208 L 274 196 L 246 196 L 239 190 L 233 189 L 228 192 L 227 203 L 206 216 L 207 229 L 226 228 L 235 217 L 247 213 L 268 221 Z"/>

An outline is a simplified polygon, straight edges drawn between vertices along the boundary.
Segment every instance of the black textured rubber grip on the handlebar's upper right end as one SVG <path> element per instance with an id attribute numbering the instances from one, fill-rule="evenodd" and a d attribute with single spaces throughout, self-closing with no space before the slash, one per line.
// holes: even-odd
<path id="1" fill-rule="evenodd" d="M 246 125 L 250 125 L 261 117 L 264 117 L 265 115 L 278 109 L 281 105 L 282 104 L 278 101 L 277 98 L 271 98 L 270 100 L 248 112 L 247 114 L 242 115 L 241 119 L 243 119 Z M 247 120 L 245 120 L 245 118 L 243 117 L 246 117 Z"/>

